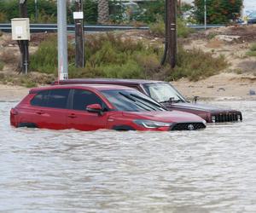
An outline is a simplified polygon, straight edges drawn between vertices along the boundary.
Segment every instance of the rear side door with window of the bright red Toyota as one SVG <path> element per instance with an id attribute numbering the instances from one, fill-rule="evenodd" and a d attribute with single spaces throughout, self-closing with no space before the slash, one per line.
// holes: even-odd
<path id="1" fill-rule="evenodd" d="M 32 123 L 38 128 L 67 129 L 67 100 L 70 89 L 39 92 L 31 101 Z"/>

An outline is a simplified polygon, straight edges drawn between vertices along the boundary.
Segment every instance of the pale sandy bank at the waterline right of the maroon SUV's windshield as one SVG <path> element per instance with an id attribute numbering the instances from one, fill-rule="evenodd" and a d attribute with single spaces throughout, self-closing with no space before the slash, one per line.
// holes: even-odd
<path id="1" fill-rule="evenodd" d="M 256 77 L 244 77 L 235 73 L 221 73 L 198 82 L 181 79 L 172 82 L 185 97 L 214 100 L 256 100 Z"/>

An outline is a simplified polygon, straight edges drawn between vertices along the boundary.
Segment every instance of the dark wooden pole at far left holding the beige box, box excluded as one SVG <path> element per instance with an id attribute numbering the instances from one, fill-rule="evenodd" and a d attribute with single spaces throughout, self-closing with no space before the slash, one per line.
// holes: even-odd
<path id="1" fill-rule="evenodd" d="M 20 6 L 20 18 L 27 18 L 27 7 L 26 0 L 19 1 Z M 28 65 L 29 65 L 29 51 L 28 51 L 28 41 L 18 41 L 20 54 L 21 54 L 21 64 L 20 64 L 20 72 L 27 74 Z"/>

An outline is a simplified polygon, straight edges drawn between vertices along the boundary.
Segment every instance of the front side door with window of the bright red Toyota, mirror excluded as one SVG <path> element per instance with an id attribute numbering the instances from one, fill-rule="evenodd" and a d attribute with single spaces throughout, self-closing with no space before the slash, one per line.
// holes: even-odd
<path id="1" fill-rule="evenodd" d="M 87 112 L 86 107 L 91 104 L 100 104 L 106 109 L 102 99 L 92 91 L 85 89 L 73 89 L 71 109 L 67 113 L 67 125 L 69 129 L 76 130 L 100 130 L 108 128 L 108 112 L 102 115 Z"/>

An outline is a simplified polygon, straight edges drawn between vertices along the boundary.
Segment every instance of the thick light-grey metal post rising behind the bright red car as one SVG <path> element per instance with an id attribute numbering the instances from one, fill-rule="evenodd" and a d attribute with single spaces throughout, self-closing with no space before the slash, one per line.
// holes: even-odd
<path id="1" fill-rule="evenodd" d="M 58 0 L 58 76 L 68 78 L 67 66 L 67 1 Z"/>

